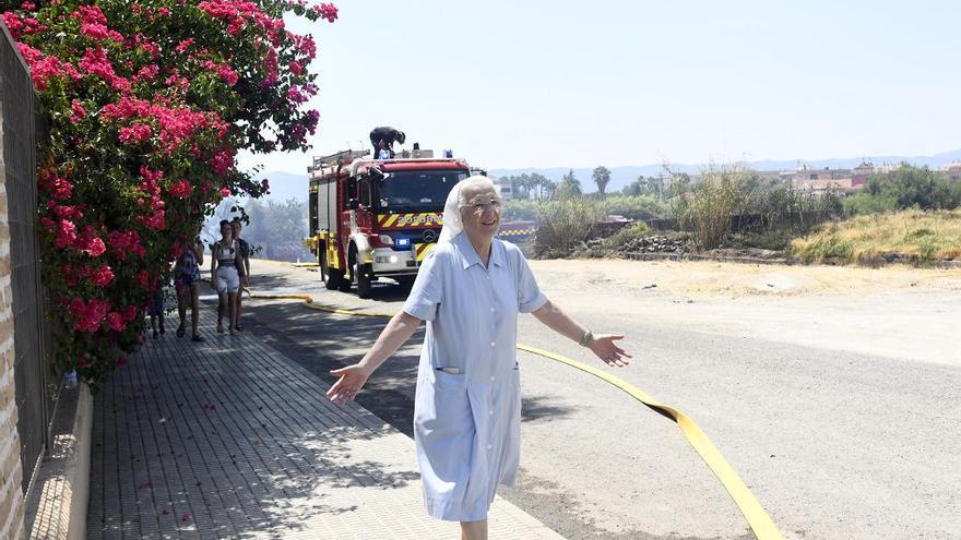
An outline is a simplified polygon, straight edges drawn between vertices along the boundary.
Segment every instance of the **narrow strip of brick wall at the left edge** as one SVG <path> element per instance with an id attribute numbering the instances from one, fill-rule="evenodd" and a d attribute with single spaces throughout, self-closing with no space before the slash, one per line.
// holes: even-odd
<path id="1" fill-rule="evenodd" d="M 10 281 L 10 227 L 7 215 L 7 167 L 3 163 L 3 118 L 0 107 L 0 538 L 23 536 L 20 433 L 13 379 L 13 291 Z"/>

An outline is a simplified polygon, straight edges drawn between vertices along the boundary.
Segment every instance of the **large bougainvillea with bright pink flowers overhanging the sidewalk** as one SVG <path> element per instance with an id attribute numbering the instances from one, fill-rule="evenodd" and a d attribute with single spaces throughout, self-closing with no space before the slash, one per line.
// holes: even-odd
<path id="1" fill-rule="evenodd" d="M 305 151 L 319 112 L 317 46 L 285 15 L 331 4 L 273 0 L 0 0 L 31 68 L 39 141 L 44 285 L 57 369 L 93 387 L 139 346 L 143 307 L 204 215 L 268 182 L 238 151 Z"/>

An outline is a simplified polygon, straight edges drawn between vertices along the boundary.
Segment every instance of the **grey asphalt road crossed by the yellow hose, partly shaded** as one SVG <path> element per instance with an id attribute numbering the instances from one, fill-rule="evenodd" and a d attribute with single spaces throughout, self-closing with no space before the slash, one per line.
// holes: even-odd
<path id="1" fill-rule="evenodd" d="M 309 292 L 379 312 L 395 312 L 406 293 L 377 286 L 372 301 L 360 301 L 324 290 L 316 272 L 275 263 L 254 263 L 254 274 L 258 292 Z M 558 276 L 538 278 L 550 296 L 548 279 Z M 961 539 L 961 369 L 678 328 L 625 309 L 630 295 L 622 302 L 612 314 L 603 305 L 574 313 L 595 332 L 628 336 L 634 362 L 604 369 L 692 417 L 785 537 Z M 327 372 L 358 360 L 384 322 L 245 300 L 251 332 L 328 382 Z M 603 367 L 530 315 L 519 335 Z M 408 435 L 422 338 L 423 331 L 357 399 Z M 501 495 L 571 539 L 754 538 L 673 422 L 591 375 L 519 358 L 521 485 Z"/>

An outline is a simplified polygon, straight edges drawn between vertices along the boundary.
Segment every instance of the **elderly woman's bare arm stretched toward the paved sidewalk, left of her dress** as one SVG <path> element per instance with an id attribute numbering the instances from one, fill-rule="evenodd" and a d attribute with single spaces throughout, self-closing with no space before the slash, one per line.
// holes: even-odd
<path id="1" fill-rule="evenodd" d="M 417 332 L 418 326 L 420 320 L 403 311 L 391 317 L 359 362 L 331 371 L 332 375 L 339 375 L 340 379 L 327 391 L 327 397 L 337 405 L 354 399 L 367 383 L 367 377 L 400 349 Z"/>

